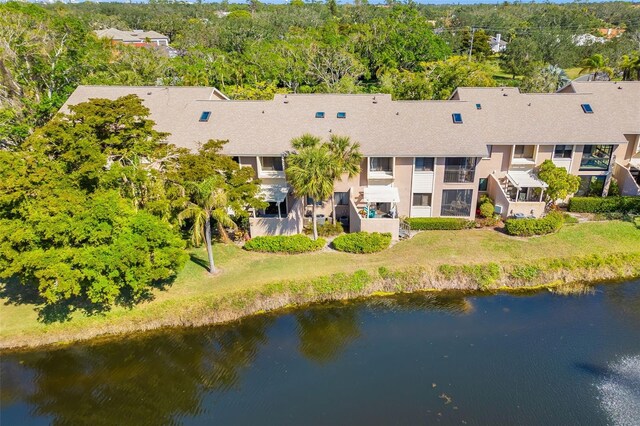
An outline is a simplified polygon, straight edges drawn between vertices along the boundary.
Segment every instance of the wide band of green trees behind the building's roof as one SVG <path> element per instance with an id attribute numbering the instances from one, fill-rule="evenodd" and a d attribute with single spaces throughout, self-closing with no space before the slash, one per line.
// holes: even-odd
<path id="1" fill-rule="evenodd" d="M 164 33 L 175 55 L 93 34 L 108 27 Z M 574 36 L 609 27 L 625 32 L 575 44 Z M 640 9 L 622 2 L 7 3 L 0 5 L 0 144 L 24 140 L 78 84 L 215 86 L 235 99 L 276 92 L 446 99 L 459 85 L 553 91 L 567 81 L 562 69 L 574 66 L 637 79 L 639 28 Z M 498 55 L 489 46 L 496 34 L 508 43 Z"/>

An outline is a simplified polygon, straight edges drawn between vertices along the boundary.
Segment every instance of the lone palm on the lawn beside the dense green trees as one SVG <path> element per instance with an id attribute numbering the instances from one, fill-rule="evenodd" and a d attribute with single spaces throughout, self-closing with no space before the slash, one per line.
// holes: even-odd
<path id="1" fill-rule="evenodd" d="M 205 240 L 209 257 L 209 272 L 214 274 L 216 267 L 211 246 L 211 218 L 215 219 L 218 229 L 222 229 L 222 231 L 225 226 L 236 227 L 236 224 L 229 217 L 225 183 L 221 176 L 213 176 L 201 182 L 189 182 L 186 189 L 189 201 L 178 215 L 178 220 L 180 224 L 184 223 L 185 219 L 193 220 L 191 241 L 195 246 L 199 246 L 202 244 L 202 240 Z"/>

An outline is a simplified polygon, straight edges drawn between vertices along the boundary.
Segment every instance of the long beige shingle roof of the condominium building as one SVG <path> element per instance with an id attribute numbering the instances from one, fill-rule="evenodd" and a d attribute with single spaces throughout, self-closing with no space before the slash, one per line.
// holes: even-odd
<path id="1" fill-rule="evenodd" d="M 591 84 L 574 83 L 565 92 L 593 87 L 594 93 L 459 88 L 456 100 L 449 101 L 314 94 L 222 102 L 224 95 L 213 88 L 80 86 L 65 107 L 136 94 L 151 110 L 158 130 L 171 133 L 170 143 L 195 150 L 208 139 L 229 140 L 224 148 L 229 155 L 279 155 L 304 133 L 350 136 L 367 156 L 485 156 L 491 144 L 617 144 L 627 142 L 624 133 L 640 133 L 640 96 L 632 99 L 640 83 L 623 89 Z M 585 114 L 582 103 L 591 104 L 594 113 Z M 206 122 L 199 121 L 203 111 L 211 112 Z M 315 118 L 316 112 L 324 112 L 324 118 Z M 338 112 L 346 118 L 337 118 Z M 453 123 L 454 113 L 462 115 L 462 124 Z"/>

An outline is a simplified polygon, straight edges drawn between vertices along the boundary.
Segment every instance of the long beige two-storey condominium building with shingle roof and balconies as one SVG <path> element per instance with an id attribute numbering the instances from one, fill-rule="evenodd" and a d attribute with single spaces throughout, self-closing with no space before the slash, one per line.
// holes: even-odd
<path id="1" fill-rule="evenodd" d="M 213 88 L 80 86 L 63 107 L 136 94 L 168 142 L 197 150 L 228 140 L 224 154 L 255 170 L 269 207 L 252 212 L 253 236 L 301 232 L 313 200 L 294 196 L 285 174 L 291 140 L 349 136 L 361 172 L 336 182 L 336 215 L 351 231 L 391 232 L 399 217 L 474 218 L 489 195 L 499 213 L 540 216 L 547 159 L 581 177 L 579 194 L 606 194 L 612 177 L 640 195 L 640 82 L 574 82 L 558 93 L 459 88 L 447 101 L 390 95 L 296 94 L 231 101 Z M 331 203 L 315 200 L 329 217 Z"/>

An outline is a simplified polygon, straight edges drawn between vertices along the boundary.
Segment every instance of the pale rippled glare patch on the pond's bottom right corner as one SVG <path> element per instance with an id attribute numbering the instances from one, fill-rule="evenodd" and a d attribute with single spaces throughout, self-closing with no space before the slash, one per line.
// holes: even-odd
<path id="1" fill-rule="evenodd" d="M 640 355 L 611 363 L 596 384 L 600 402 L 616 426 L 640 425 Z"/>

